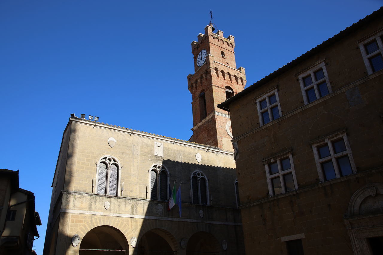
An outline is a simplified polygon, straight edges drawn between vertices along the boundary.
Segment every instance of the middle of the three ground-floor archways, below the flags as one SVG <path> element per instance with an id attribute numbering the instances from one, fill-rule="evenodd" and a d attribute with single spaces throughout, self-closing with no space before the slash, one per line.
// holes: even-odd
<path id="1" fill-rule="evenodd" d="M 152 229 L 140 238 L 138 255 L 175 255 L 171 234 L 162 229 Z"/>

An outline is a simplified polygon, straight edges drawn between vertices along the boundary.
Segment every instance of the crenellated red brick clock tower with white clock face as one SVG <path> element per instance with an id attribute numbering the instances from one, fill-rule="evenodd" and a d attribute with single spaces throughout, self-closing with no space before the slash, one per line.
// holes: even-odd
<path id="1" fill-rule="evenodd" d="M 234 36 L 223 37 L 212 26 L 191 43 L 194 74 L 188 75 L 188 90 L 193 101 L 191 142 L 233 151 L 230 113 L 218 104 L 241 92 L 246 85 L 245 69 L 236 67 Z"/>

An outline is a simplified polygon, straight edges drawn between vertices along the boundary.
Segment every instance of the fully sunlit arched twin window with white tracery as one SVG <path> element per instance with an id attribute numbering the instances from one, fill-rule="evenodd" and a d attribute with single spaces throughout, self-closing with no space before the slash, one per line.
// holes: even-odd
<path id="1" fill-rule="evenodd" d="M 121 165 L 111 156 L 102 157 L 97 163 L 97 194 L 118 195 Z"/>

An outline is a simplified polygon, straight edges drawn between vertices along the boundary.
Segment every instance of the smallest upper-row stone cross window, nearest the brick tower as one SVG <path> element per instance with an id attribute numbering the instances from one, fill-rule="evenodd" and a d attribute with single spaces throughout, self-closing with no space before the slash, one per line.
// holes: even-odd
<path id="1" fill-rule="evenodd" d="M 260 126 L 282 116 L 277 89 L 265 93 L 257 99 L 257 108 Z"/>

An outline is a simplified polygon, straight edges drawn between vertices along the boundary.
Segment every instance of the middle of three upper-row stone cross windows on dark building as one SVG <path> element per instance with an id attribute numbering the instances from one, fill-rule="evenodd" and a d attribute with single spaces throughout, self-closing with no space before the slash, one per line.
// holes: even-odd
<path id="1" fill-rule="evenodd" d="M 298 75 L 304 104 L 332 93 L 324 62 L 313 65 Z"/>

